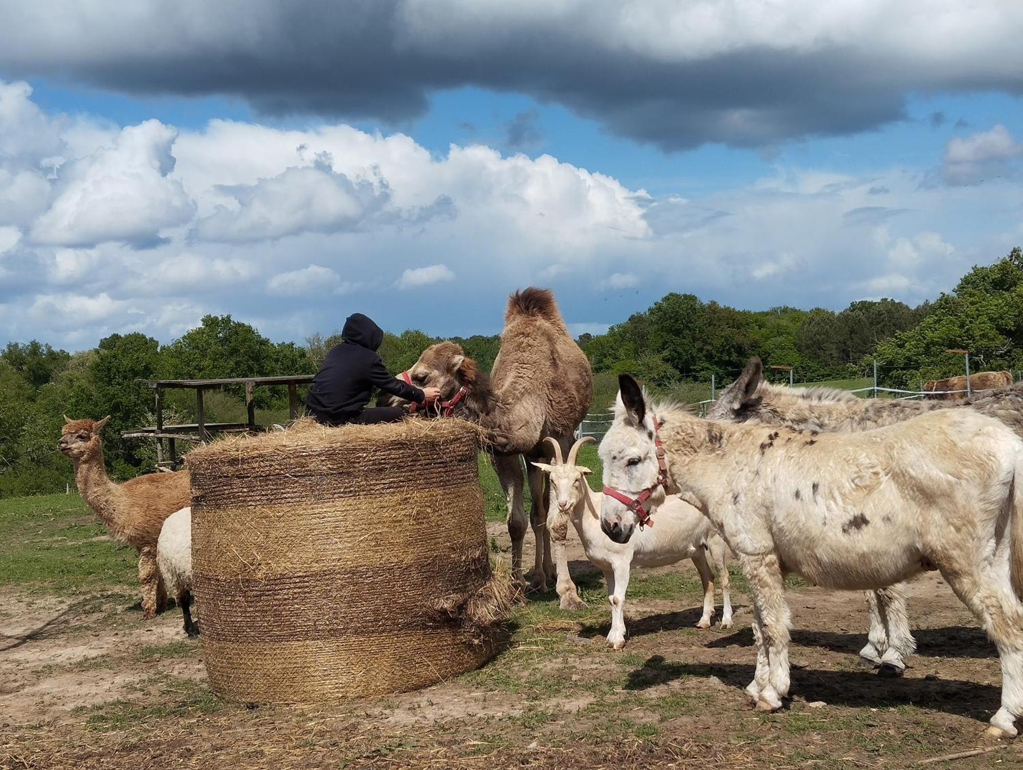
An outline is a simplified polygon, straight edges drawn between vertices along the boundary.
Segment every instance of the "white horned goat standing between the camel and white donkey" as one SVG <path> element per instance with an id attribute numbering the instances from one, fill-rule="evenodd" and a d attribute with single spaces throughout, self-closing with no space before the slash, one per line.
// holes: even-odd
<path id="1" fill-rule="evenodd" d="M 550 476 L 550 503 L 547 506 L 547 527 L 550 529 L 554 559 L 567 564 L 564 558 L 568 522 L 571 521 L 582 541 L 586 558 L 601 568 L 608 584 L 608 601 L 611 602 L 611 633 L 608 643 L 615 649 L 625 646 L 625 590 L 629 585 L 632 567 L 661 567 L 682 559 L 693 559 L 700 572 L 704 589 L 704 611 L 697 628 L 710 628 L 714 617 L 714 575 L 707 563 L 710 551 L 721 581 L 721 628 L 731 626 L 731 597 L 728 593 L 728 570 L 724 556 L 726 546 L 714 530 L 713 524 L 700 511 L 678 498 L 672 498 L 658 510 L 656 527 L 637 532 L 628 543 L 615 543 L 601 529 L 602 495 L 589 488 L 586 476 L 592 471 L 576 465 L 579 447 L 592 441 L 589 436 L 580 438 L 569 450 L 568 461 L 562 461 L 562 447 L 551 438 L 545 439 L 553 448 L 554 464 L 533 463 Z M 562 607 L 585 606 L 576 591 L 568 569 L 558 572 L 558 595 Z"/>

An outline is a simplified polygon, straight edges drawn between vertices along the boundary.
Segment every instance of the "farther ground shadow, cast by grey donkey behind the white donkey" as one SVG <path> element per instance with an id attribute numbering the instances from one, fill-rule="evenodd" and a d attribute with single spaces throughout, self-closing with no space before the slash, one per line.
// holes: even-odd
<path id="1" fill-rule="evenodd" d="M 914 629 L 917 653 L 925 657 L 995 657 L 997 650 L 981 629 L 948 626 L 943 629 Z M 866 643 L 866 629 L 861 634 L 831 631 L 793 631 L 792 643 L 802 647 L 820 647 L 833 652 L 858 654 Z M 708 647 L 753 646 L 753 631 L 746 627 L 733 634 L 713 639 Z"/>

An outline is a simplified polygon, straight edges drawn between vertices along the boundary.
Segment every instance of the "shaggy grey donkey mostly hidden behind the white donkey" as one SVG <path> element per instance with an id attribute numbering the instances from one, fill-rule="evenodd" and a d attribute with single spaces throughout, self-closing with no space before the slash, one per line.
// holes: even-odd
<path id="1" fill-rule="evenodd" d="M 996 418 L 1023 438 L 1023 389 L 1019 387 L 988 390 L 973 398 L 958 400 L 859 398 L 854 393 L 835 388 L 771 385 L 764 380 L 763 366 L 756 356 L 750 359 L 739 378 L 721 391 L 707 417 L 796 430 L 862 431 L 953 407 L 969 407 Z M 882 676 L 900 676 L 905 671 L 905 658 L 917 648 L 909 632 L 905 587 L 897 585 L 872 592 L 868 595 L 868 605 L 871 631 L 859 654 L 879 666 Z"/>

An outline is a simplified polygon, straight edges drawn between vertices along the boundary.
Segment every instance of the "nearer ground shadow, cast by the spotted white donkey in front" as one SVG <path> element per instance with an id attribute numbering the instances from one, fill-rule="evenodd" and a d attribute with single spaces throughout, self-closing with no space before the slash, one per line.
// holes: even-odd
<path id="1" fill-rule="evenodd" d="M 626 690 L 646 690 L 683 677 L 717 677 L 742 690 L 753 679 L 752 664 L 686 664 L 649 657 L 628 676 Z M 959 717 L 986 720 L 998 708 L 998 687 L 958 679 L 882 679 L 871 672 L 793 669 L 792 695 L 831 705 L 888 708 L 916 705 Z"/>

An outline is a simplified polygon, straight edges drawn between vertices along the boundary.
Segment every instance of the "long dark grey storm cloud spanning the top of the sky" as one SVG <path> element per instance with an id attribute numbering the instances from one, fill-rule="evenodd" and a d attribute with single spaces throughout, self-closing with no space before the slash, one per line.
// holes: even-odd
<path id="1" fill-rule="evenodd" d="M 981 24 L 976 3 L 821 13 L 793 2 L 738 19 L 723 0 L 704 5 L 138 0 L 126 12 L 110 0 L 74 11 L 0 0 L 0 73 L 386 122 L 474 86 L 554 101 L 664 149 L 870 129 L 904 117 L 909 92 L 1023 90 L 1023 4 L 982 1 L 997 25 Z"/>

